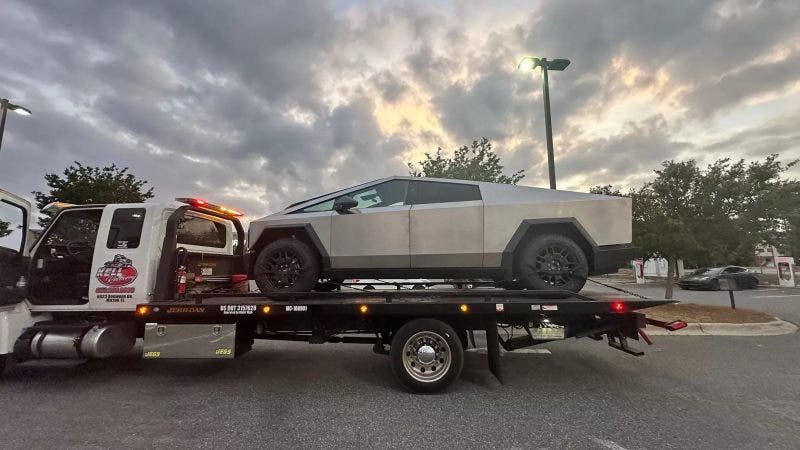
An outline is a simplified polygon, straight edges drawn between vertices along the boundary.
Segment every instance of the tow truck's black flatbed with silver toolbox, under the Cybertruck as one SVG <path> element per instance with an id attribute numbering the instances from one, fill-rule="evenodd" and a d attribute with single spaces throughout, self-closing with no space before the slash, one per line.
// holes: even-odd
<path id="1" fill-rule="evenodd" d="M 235 357 L 254 339 L 367 343 L 376 353 L 391 354 L 402 384 L 430 392 L 452 380 L 426 384 L 426 375 L 416 373 L 408 358 L 420 363 L 435 352 L 437 360 L 461 364 L 463 349 L 475 345 L 476 330 L 486 332 L 489 369 L 502 381 L 500 347 L 513 351 L 571 337 L 606 338 L 617 350 L 642 355 L 627 340 L 650 343 L 642 330 L 648 323 L 671 324 L 648 321 L 638 311 L 667 303 L 672 301 L 593 292 L 399 289 L 192 295 L 138 305 L 137 316 L 145 357 Z M 498 330 L 505 330 L 503 336 Z M 220 347 L 223 339 L 228 344 Z M 197 356 L 203 348 L 213 353 Z"/>

